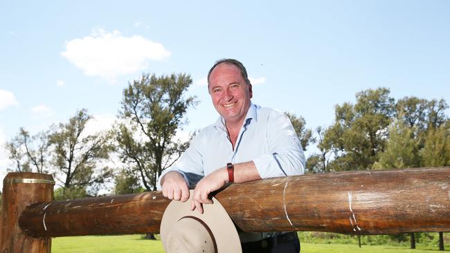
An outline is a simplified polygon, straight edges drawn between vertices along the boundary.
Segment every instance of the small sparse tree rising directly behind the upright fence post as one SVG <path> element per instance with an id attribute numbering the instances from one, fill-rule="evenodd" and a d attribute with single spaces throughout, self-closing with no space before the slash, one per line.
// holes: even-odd
<path id="1" fill-rule="evenodd" d="M 48 145 L 47 132 L 42 131 L 30 136 L 30 133 L 21 127 L 15 138 L 6 142 L 9 158 L 16 164 L 13 170 L 48 173 Z"/>

